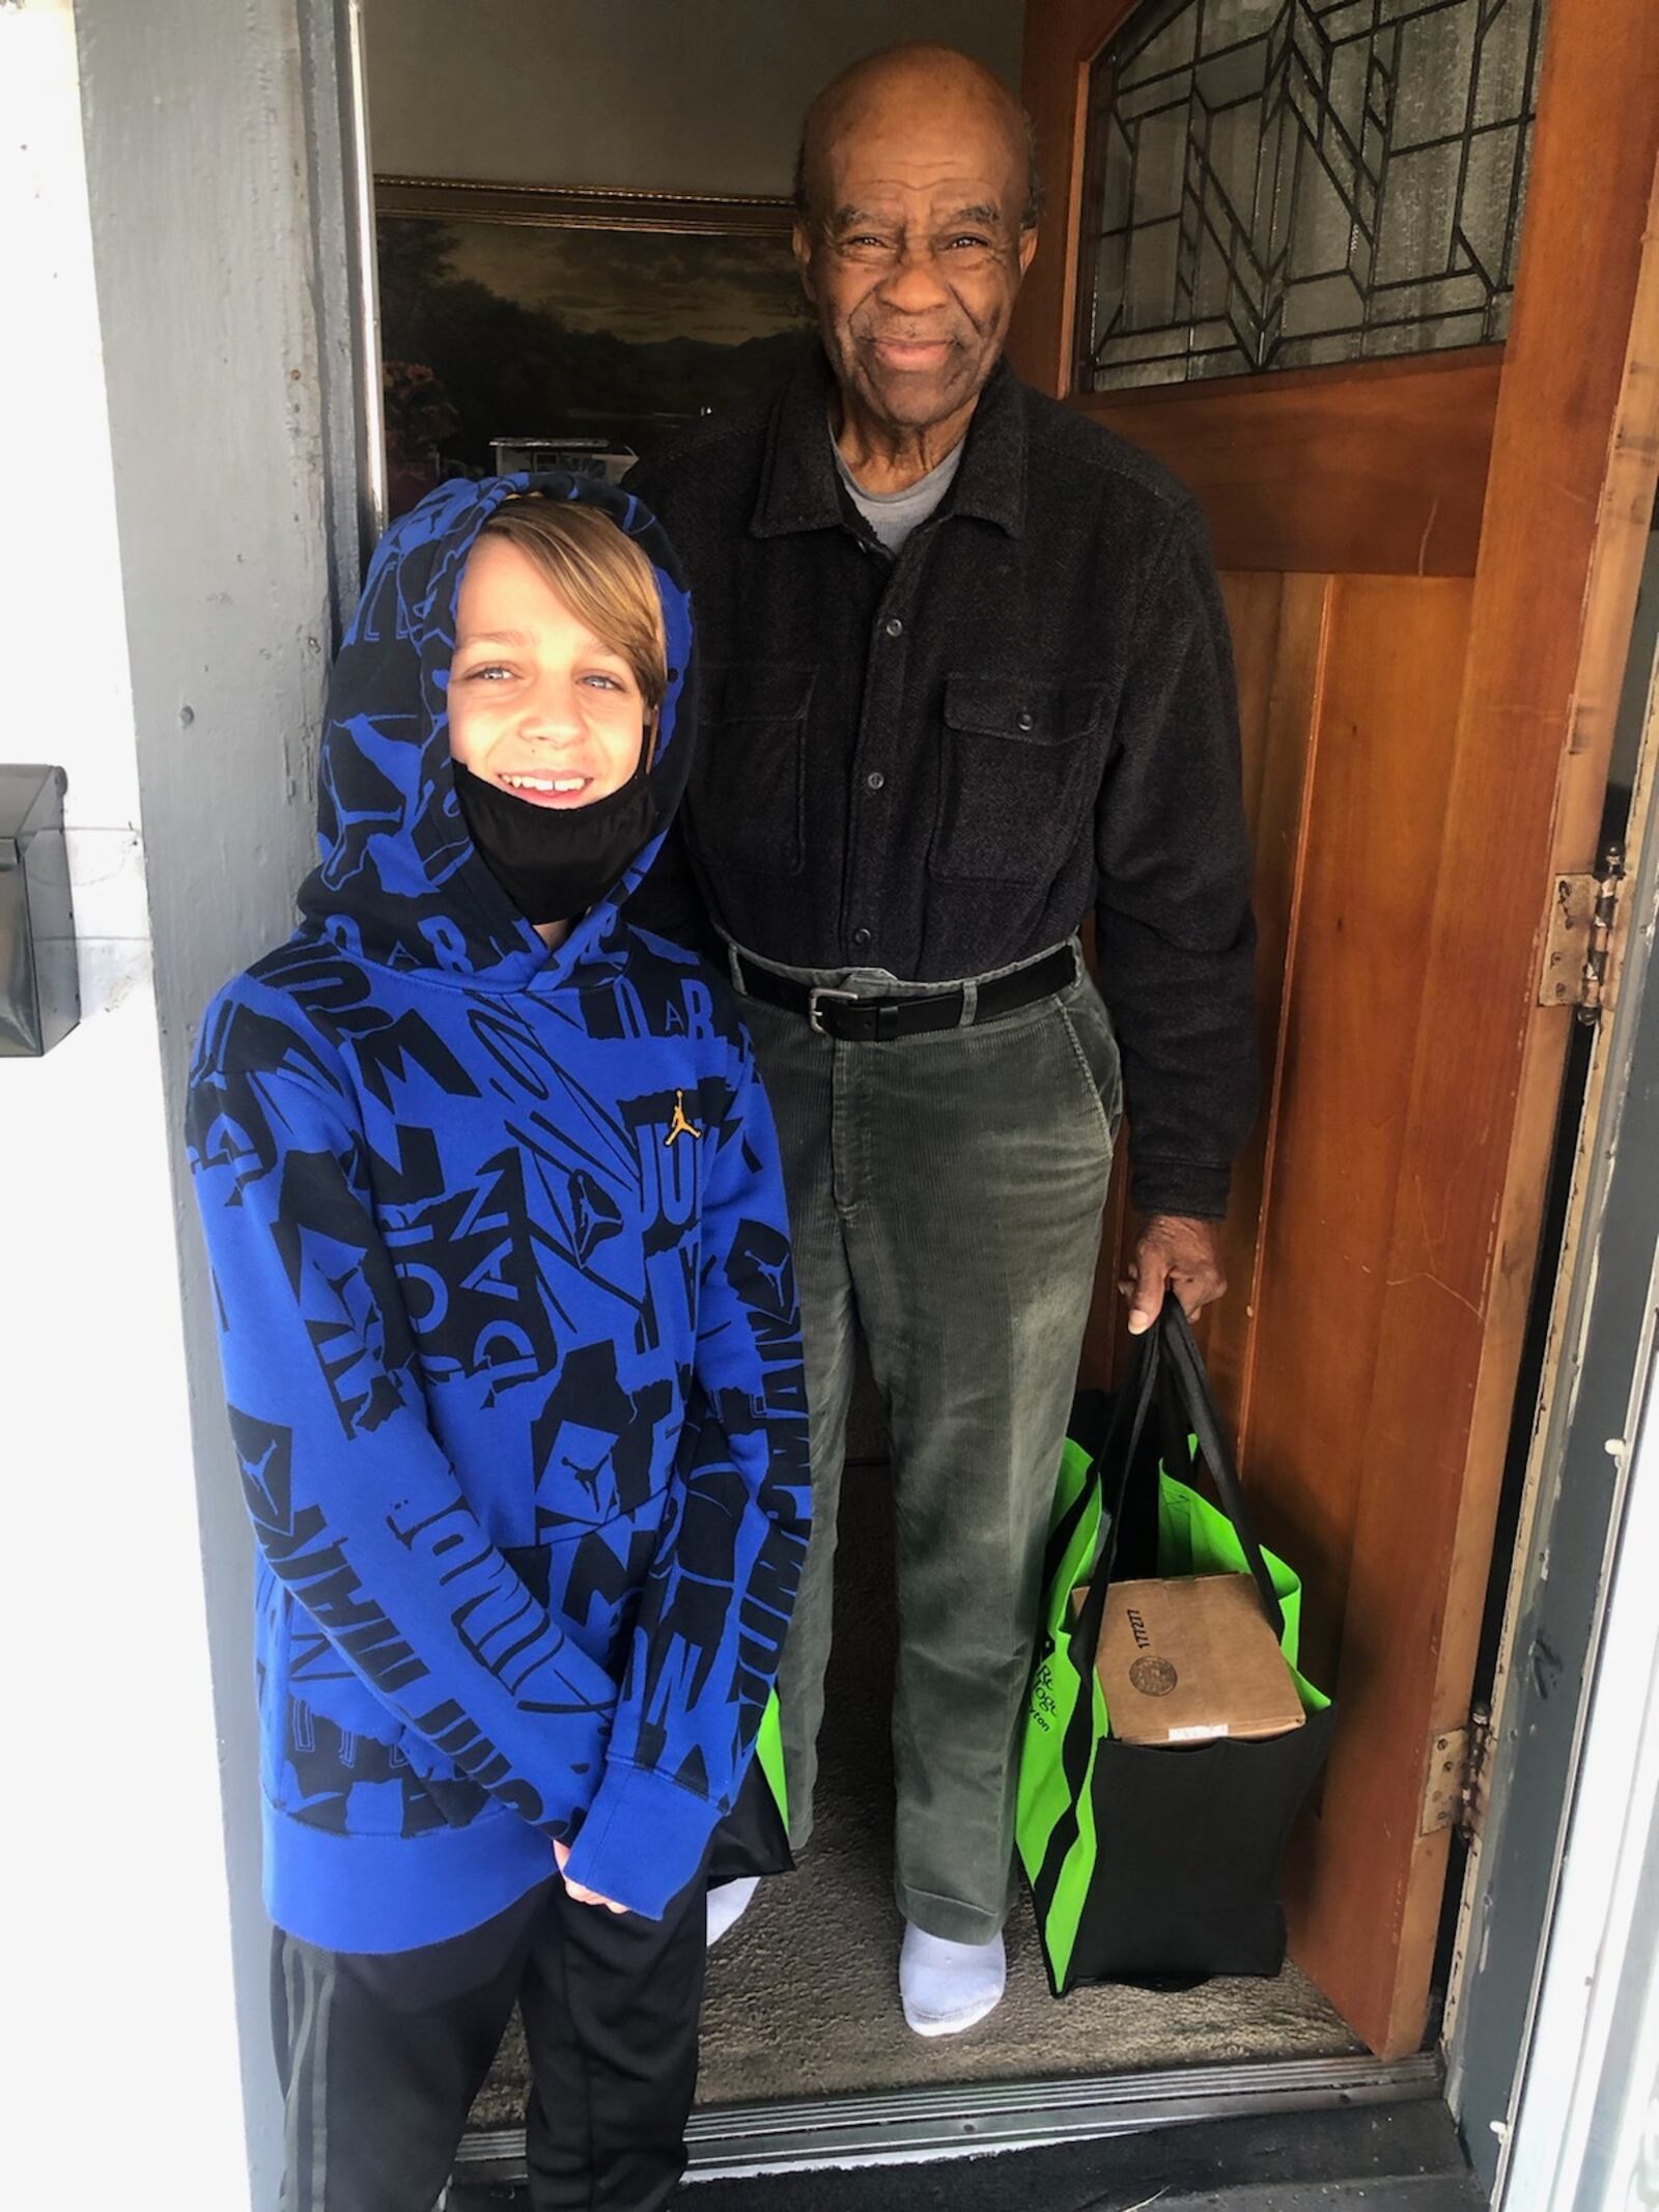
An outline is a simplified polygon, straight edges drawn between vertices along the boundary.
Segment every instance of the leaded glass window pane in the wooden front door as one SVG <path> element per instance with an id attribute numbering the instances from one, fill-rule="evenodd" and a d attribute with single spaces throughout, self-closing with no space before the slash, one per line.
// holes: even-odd
<path id="1" fill-rule="evenodd" d="M 1084 392 L 1502 338 L 1544 0 L 1144 0 L 1091 80 Z"/>

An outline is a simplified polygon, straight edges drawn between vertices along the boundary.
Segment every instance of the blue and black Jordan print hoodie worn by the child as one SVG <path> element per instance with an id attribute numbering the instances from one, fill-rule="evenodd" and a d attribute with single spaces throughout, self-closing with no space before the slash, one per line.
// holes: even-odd
<path id="1" fill-rule="evenodd" d="M 690 768 L 690 611 L 644 507 L 445 484 L 374 555 L 330 688 L 301 927 L 208 1006 L 190 1164 L 259 1535 L 265 1900 L 341 1951 L 553 1874 L 653 1918 L 743 1778 L 807 1531 L 772 1121 L 734 1000 L 626 922 L 549 953 L 449 768 L 456 588 L 515 491 L 657 571 L 650 785 Z"/>

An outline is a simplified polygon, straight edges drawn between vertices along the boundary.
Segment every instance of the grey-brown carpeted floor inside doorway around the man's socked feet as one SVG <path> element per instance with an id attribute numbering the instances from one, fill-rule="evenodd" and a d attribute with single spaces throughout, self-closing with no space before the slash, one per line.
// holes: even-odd
<path id="1" fill-rule="evenodd" d="M 1097 1986 L 1057 2004 L 1024 1891 L 1009 1920 L 1002 2006 L 967 2035 L 911 2035 L 896 1980 L 887 1734 L 894 1639 L 887 1469 L 849 1467 L 818 1825 L 799 1871 L 765 1882 L 710 1958 L 699 2106 L 1363 2048 L 1294 1966 L 1276 1982 L 1219 1980 L 1183 1995 Z M 524 2046 L 513 2024 L 471 2126 L 518 2126 L 524 2090 Z"/>

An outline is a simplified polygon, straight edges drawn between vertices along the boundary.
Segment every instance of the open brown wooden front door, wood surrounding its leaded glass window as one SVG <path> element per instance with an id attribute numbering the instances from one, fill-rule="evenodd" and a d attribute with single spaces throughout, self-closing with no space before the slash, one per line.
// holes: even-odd
<path id="1" fill-rule="evenodd" d="M 1181 9 L 1150 4 L 1179 62 Z M 1451 7 L 1230 13 L 1239 35 L 1276 27 L 1285 97 L 1318 131 L 1338 31 L 1376 15 L 1398 35 Z M 1267 1093 L 1208 1352 L 1270 1540 L 1307 1579 L 1307 1670 L 1340 1705 L 1294 1854 L 1292 1951 L 1400 2055 L 1427 2022 L 1449 1851 L 1429 1783 L 1469 1717 L 1573 1022 L 1540 1004 L 1542 931 L 1555 874 L 1597 858 L 1655 491 L 1659 7 L 1548 0 L 1502 345 L 1102 392 L 1077 369 L 1095 336 L 1079 263 L 1099 250 L 1086 139 L 1095 60 L 1130 15 L 1026 9 L 1046 215 L 1011 352 L 1210 513 Z M 1484 35 L 1498 9 L 1464 15 Z M 1199 221 L 1194 170 L 1177 186 L 1177 221 Z M 1108 1250 L 1097 1376 L 1115 1272 Z"/>

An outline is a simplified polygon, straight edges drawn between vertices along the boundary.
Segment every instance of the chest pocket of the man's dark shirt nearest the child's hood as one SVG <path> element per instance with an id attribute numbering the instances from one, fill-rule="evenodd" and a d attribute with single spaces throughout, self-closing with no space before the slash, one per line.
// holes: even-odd
<path id="1" fill-rule="evenodd" d="M 710 670 L 692 816 L 708 867 L 796 876 L 805 860 L 807 708 L 816 668 Z"/>

